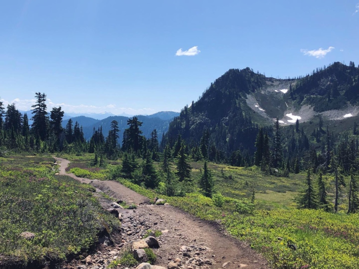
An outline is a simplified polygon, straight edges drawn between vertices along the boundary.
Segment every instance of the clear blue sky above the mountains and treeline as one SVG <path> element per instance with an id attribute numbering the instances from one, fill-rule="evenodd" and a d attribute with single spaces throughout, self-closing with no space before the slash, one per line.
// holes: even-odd
<path id="1" fill-rule="evenodd" d="M 359 0 L 2 1 L 0 98 L 21 110 L 40 91 L 65 112 L 179 111 L 230 68 L 305 75 L 358 65 L 358 44 Z"/>

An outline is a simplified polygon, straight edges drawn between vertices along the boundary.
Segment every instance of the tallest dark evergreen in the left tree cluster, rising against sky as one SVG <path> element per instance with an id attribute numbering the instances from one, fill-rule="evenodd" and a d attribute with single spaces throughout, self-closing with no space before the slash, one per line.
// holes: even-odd
<path id="1" fill-rule="evenodd" d="M 47 123 L 48 123 L 48 113 L 46 111 L 46 94 L 41 94 L 40 92 L 35 93 L 36 103 L 31 106 L 32 109 L 32 127 L 31 130 L 38 135 L 41 140 L 47 138 Z"/>

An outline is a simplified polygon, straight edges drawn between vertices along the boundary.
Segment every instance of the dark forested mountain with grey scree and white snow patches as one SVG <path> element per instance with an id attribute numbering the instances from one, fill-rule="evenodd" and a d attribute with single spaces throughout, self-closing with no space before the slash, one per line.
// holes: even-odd
<path id="1" fill-rule="evenodd" d="M 318 115 L 328 120 L 358 115 L 358 77 L 359 67 L 352 62 L 292 79 L 266 77 L 250 68 L 230 69 L 174 118 L 162 145 L 173 145 L 180 134 L 191 148 L 208 130 L 210 147 L 222 152 L 214 150 L 216 154 L 253 152 L 258 126 L 271 126 L 275 118 L 291 125 Z"/>

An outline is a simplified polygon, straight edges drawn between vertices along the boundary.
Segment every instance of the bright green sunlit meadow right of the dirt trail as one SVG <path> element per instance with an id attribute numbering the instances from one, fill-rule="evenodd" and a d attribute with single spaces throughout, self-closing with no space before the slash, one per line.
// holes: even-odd
<path id="1" fill-rule="evenodd" d="M 86 155 L 73 165 L 82 165 L 83 169 L 90 171 L 85 163 L 92 158 Z M 76 157 L 73 160 L 76 162 Z M 191 165 L 192 178 L 197 182 L 203 163 L 192 162 Z M 109 173 L 111 167 L 102 169 L 101 173 Z M 209 168 L 216 190 L 228 197 L 222 207 L 215 206 L 212 199 L 200 194 L 166 197 L 128 180 L 118 180 L 151 199 L 156 196 L 165 198 L 193 215 L 222 222 L 233 236 L 247 241 L 263 253 L 273 268 L 359 268 L 359 216 L 345 214 L 345 198 L 341 200 L 341 211 L 337 214 L 297 210 L 293 198 L 303 188 L 305 174 L 279 178 L 263 175 L 254 167 L 236 168 L 209 163 Z M 325 178 L 331 199 L 332 178 L 330 175 Z M 315 175 L 313 179 L 316 180 Z M 250 198 L 253 189 L 256 191 L 256 209 L 253 214 L 238 214 L 235 199 Z M 346 192 L 343 190 L 343 196 Z M 295 245 L 297 250 L 288 245 Z"/>

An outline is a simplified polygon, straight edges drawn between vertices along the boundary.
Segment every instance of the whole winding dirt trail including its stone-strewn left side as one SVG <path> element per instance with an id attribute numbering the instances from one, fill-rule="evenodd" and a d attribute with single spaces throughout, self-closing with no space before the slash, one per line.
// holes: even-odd
<path id="1" fill-rule="evenodd" d="M 65 169 L 69 161 L 55 159 L 59 163 L 59 174 L 91 184 L 97 192 L 106 192 L 118 201 L 137 205 L 136 209 L 123 209 L 110 201 L 101 201 L 104 208 L 118 214 L 122 221 L 121 239 L 108 246 L 105 242 L 102 249 L 86 257 L 87 260 L 83 257 L 82 261 L 73 261 L 67 268 L 106 269 L 129 244 L 142 239 L 148 230 L 162 231 L 162 235 L 156 238 L 159 248 L 153 249 L 157 256 L 156 265 L 141 263 L 138 269 L 161 269 L 161 266 L 168 269 L 268 268 L 261 255 L 227 236 L 219 225 L 193 217 L 171 205 L 151 205 L 146 197 L 116 181 L 91 180 L 68 174 Z"/>

